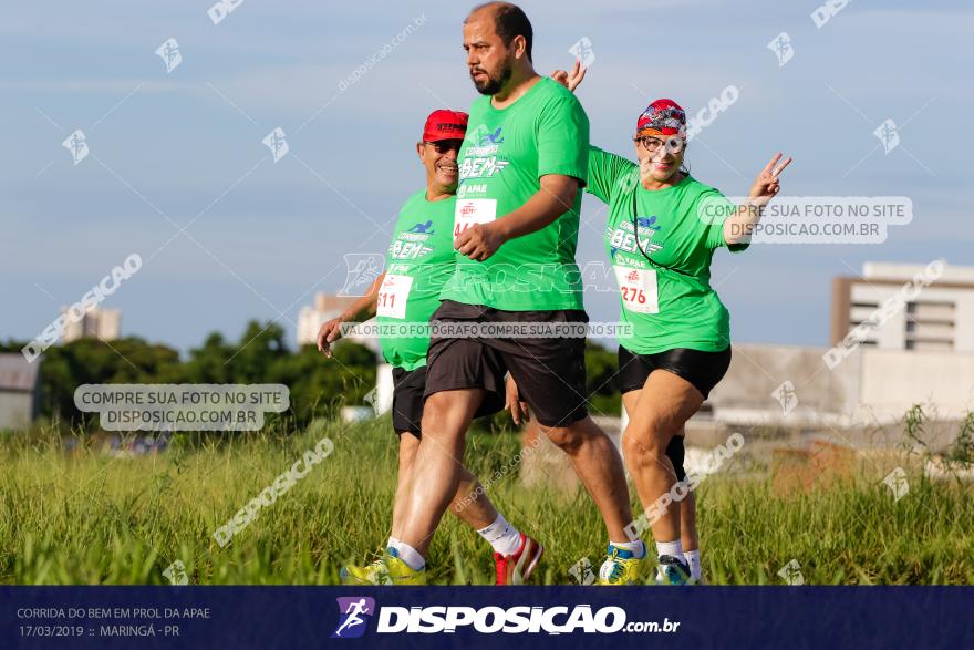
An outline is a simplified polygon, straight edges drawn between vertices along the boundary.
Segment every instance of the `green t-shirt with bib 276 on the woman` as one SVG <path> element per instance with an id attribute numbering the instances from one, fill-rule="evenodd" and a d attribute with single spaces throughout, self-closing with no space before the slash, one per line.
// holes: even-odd
<path id="1" fill-rule="evenodd" d="M 724 350 L 731 314 L 711 287 L 711 259 L 726 245 L 731 202 L 691 176 L 673 187 L 645 189 L 635 163 L 597 147 L 589 148 L 588 190 L 609 204 L 605 248 L 620 288 L 620 321 L 632 326 L 620 344 L 638 354 Z M 702 202 L 708 209 L 701 209 Z"/>

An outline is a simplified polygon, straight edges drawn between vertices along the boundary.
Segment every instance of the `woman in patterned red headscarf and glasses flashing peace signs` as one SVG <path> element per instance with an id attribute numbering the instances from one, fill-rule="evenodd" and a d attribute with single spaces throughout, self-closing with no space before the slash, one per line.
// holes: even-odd
<path id="1" fill-rule="evenodd" d="M 584 70 L 576 64 L 571 75 L 552 76 L 574 90 Z M 701 571 L 693 493 L 674 489 L 686 476 L 684 424 L 731 364 L 731 318 L 711 287 L 711 260 L 721 247 L 747 248 L 791 158 L 779 164 L 781 154 L 775 155 L 744 205 L 734 206 L 684 167 L 686 113 L 676 102 L 651 103 L 633 141 L 638 163 L 590 147 L 586 189 L 609 206 L 605 247 L 621 292 L 620 320 L 631 326 L 619 341 L 630 419 L 623 455 L 656 541 L 656 580 L 678 585 L 700 581 Z M 664 495 L 676 498 L 664 505 Z M 641 558 L 621 559 L 619 572 L 634 581 Z"/>

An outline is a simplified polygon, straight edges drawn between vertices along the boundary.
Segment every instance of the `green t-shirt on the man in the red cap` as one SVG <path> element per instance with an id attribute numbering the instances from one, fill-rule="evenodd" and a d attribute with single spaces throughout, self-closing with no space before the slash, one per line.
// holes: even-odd
<path id="1" fill-rule="evenodd" d="M 455 205 L 453 196 L 426 200 L 424 189 L 411 196 L 400 210 L 385 258 L 376 316 L 382 355 L 396 368 L 415 370 L 426 365 L 429 336 L 422 326 L 439 307 L 439 292 L 454 271 Z"/>

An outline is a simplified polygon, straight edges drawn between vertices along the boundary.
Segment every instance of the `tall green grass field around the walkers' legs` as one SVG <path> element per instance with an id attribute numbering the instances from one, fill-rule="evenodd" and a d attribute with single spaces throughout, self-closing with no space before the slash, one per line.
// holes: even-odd
<path id="1" fill-rule="evenodd" d="M 328 435 L 333 453 L 221 548 L 213 534 Z M 0 582 L 164 584 L 182 560 L 193 584 L 335 584 L 348 559 L 371 558 L 387 536 L 395 446 L 386 420 L 294 435 L 177 437 L 158 455 L 111 457 L 91 441 L 64 452 L 60 435 L 0 440 Z M 514 434 L 478 433 L 467 464 L 507 517 L 547 547 L 537 578 L 571 584 L 580 558 L 601 563 L 605 533 L 583 492 L 526 489 L 504 471 Z M 711 584 L 974 584 L 971 486 L 910 476 L 894 502 L 873 479 L 780 495 L 769 478 L 719 474 L 697 492 Z M 634 494 L 634 491 L 632 492 Z M 633 505 L 636 506 L 635 502 Z M 489 584 L 490 549 L 447 517 L 428 560 L 435 584 Z"/>

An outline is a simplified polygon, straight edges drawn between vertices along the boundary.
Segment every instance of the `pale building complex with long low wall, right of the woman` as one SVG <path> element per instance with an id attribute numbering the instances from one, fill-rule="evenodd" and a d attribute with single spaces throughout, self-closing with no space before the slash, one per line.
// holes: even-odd
<path id="1" fill-rule="evenodd" d="M 925 270 L 867 262 L 861 278 L 836 278 L 831 349 L 734 343 L 688 435 L 711 424 L 869 430 L 902 421 L 914 404 L 933 419 L 963 420 L 974 411 L 974 267 L 945 266 L 919 291 L 903 291 Z M 884 308 L 897 296 L 905 303 Z"/>

